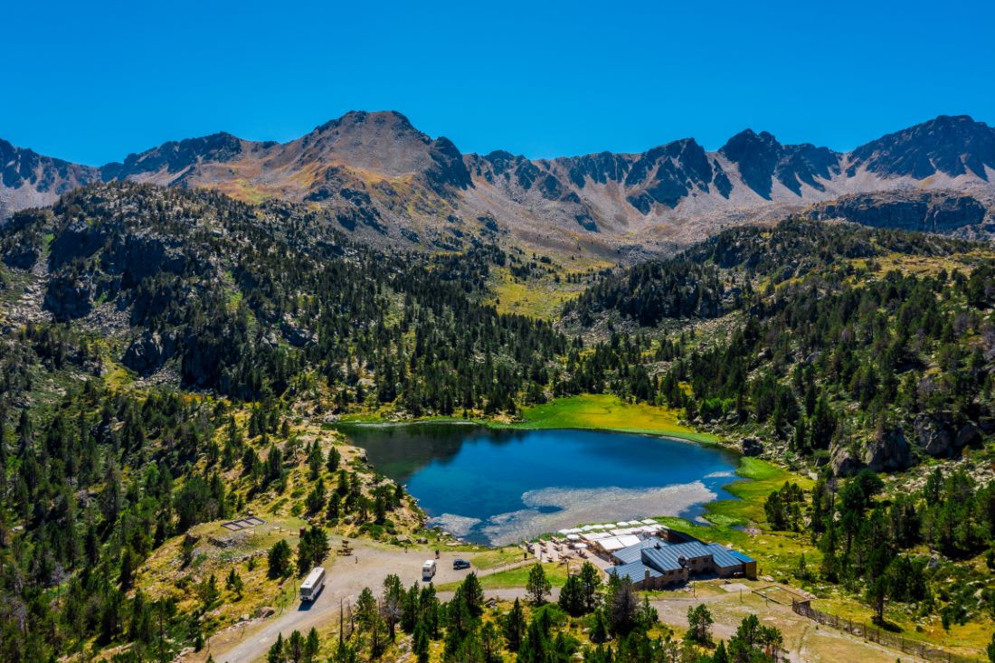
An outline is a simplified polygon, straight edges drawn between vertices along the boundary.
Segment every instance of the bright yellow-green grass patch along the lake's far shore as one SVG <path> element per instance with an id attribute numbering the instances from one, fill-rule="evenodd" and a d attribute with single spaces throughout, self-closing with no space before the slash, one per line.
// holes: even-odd
<path id="1" fill-rule="evenodd" d="M 524 421 L 515 428 L 601 428 L 630 433 L 649 433 L 713 444 L 713 435 L 698 433 L 678 422 L 676 410 L 629 403 L 608 394 L 583 394 L 557 398 L 522 410 Z"/>

